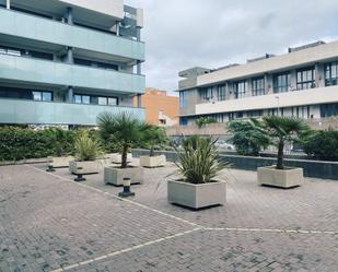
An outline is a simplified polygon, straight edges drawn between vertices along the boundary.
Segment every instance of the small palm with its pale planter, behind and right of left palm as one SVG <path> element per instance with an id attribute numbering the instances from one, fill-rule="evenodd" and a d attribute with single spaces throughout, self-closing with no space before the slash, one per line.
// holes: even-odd
<path id="1" fill-rule="evenodd" d="M 164 129 L 152 125 L 145 126 L 142 143 L 147 149 L 149 149 L 149 156 L 140 157 L 140 166 L 148 168 L 164 166 L 166 163 L 165 155 L 155 156 L 154 154 L 154 149 L 156 146 L 163 146 L 167 143 Z"/>

